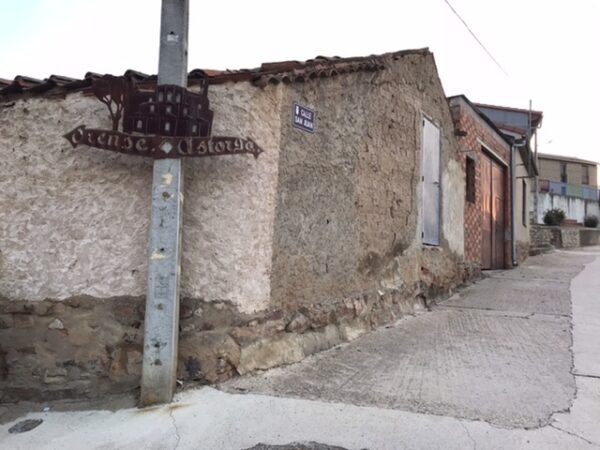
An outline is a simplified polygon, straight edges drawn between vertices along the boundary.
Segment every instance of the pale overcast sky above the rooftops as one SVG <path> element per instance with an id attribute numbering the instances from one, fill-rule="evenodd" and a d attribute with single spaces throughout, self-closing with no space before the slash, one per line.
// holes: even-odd
<path id="1" fill-rule="evenodd" d="M 539 150 L 600 160 L 600 1 L 190 0 L 189 68 L 429 47 L 447 95 L 544 112 Z M 0 0 L 0 78 L 156 73 L 160 0 Z"/>

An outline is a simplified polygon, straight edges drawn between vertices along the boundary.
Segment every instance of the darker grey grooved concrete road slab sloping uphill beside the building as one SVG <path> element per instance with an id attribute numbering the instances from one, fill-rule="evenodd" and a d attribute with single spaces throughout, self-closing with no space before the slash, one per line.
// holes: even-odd
<path id="1" fill-rule="evenodd" d="M 262 376 L 228 392 L 326 400 L 547 425 L 575 395 L 570 280 L 593 258 L 554 253 L 464 289 L 432 313 Z"/>

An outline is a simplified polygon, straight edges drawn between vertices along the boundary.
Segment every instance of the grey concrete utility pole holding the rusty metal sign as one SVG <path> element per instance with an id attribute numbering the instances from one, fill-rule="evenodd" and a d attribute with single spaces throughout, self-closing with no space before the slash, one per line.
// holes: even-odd
<path id="1" fill-rule="evenodd" d="M 187 87 L 189 0 L 162 0 L 158 84 Z M 170 144 L 166 144 L 170 145 Z M 168 150 L 169 149 L 163 149 Z M 154 162 L 141 405 L 173 398 L 179 335 L 183 163 Z"/>

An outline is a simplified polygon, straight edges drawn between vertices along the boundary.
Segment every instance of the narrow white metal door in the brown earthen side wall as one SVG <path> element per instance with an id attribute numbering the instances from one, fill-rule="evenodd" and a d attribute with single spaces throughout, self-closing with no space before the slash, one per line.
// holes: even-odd
<path id="1" fill-rule="evenodd" d="M 440 129 L 423 118 L 423 243 L 440 244 Z"/>

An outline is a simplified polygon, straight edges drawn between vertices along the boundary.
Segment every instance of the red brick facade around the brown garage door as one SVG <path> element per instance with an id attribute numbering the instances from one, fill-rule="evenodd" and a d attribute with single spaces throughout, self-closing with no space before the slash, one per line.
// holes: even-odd
<path id="1" fill-rule="evenodd" d="M 497 163 L 497 166 L 503 167 L 503 267 L 509 268 L 512 265 L 510 146 L 464 97 L 451 97 L 449 104 L 459 142 L 463 169 L 466 171 L 467 158 L 473 159 L 475 163 L 474 201 L 469 201 L 468 198 L 465 198 L 465 259 L 468 262 L 483 266 L 482 236 L 484 212 L 481 168 L 482 159 L 487 158 Z"/>

